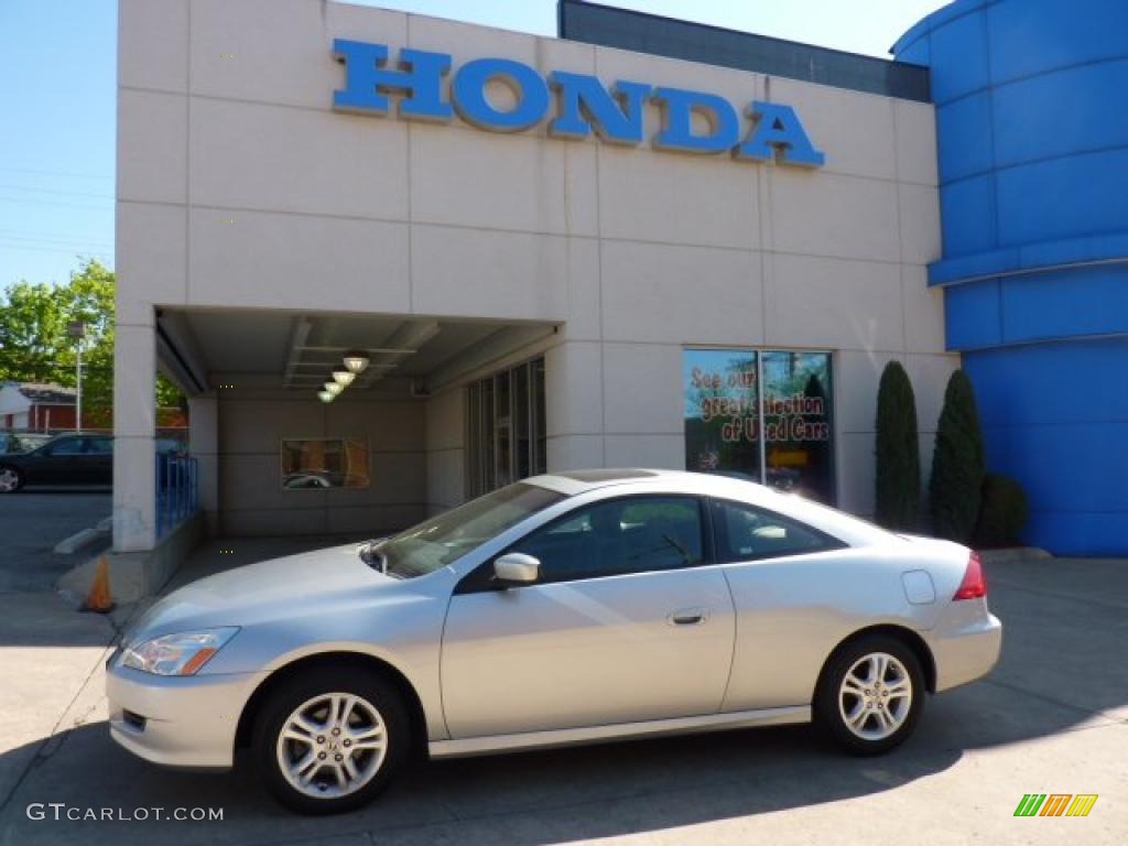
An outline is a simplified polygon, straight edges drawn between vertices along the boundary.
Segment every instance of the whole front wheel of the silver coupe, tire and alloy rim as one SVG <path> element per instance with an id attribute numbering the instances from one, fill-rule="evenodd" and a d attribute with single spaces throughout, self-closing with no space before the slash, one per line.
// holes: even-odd
<path id="1" fill-rule="evenodd" d="M 372 801 L 407 756 L 407 711 L 393 685 L 355 667 L 319 668 L 272 691 L 254 755 L 271 794 L 299 813 Z"/>

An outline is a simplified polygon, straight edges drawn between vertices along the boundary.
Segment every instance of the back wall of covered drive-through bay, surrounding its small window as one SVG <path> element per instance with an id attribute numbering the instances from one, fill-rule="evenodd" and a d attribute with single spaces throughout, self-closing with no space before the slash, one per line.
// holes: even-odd
<path id="1" fill-rule="evenodd" d="M 221 394 L 218 420 L 221 535 L 378 535 L 426 513 L 422 403 L 349 398 L 315 405 L 280 394 Z M 287 438 L 367 441 L 370 486 L 283 490 L 280 447 Z"/>

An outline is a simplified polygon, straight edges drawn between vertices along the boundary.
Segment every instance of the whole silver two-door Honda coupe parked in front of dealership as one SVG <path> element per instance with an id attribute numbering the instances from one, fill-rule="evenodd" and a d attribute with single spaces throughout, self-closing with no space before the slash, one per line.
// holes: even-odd
<path id="1" fill-rule="evenodd" d="M 135 755 L 228 768 L 246 749 L 282 803 L 328 813 L 415 749 L 813 721 L 883 752 L 1001 644 L 966 547 L 740 479 L 587 470 L 182 588 L 106 687 Z"/>

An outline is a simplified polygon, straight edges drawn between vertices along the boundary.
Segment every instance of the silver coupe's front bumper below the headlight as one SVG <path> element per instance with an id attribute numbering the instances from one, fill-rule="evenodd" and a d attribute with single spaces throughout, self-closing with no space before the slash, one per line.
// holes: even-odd
<path id="1" fill-rule="evenodd" d="M 265 672 L 166 677 L 115 659 L 106 668 L 114 740 L 153 764 L 231 767 L 239 716 Z"/>

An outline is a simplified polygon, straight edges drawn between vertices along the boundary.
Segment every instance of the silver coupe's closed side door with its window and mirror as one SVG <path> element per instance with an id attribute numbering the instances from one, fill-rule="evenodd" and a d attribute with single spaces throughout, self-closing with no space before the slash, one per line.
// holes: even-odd
<path id="1" fill-rule="evenodd" d="M 441 681 L 452 738 L 715 713 L 734 610 L 706 564 L 693 496 L 581 505 L 508 552 L 536 583 L 497 589 L 485 562 L 451 597 Z"/>

